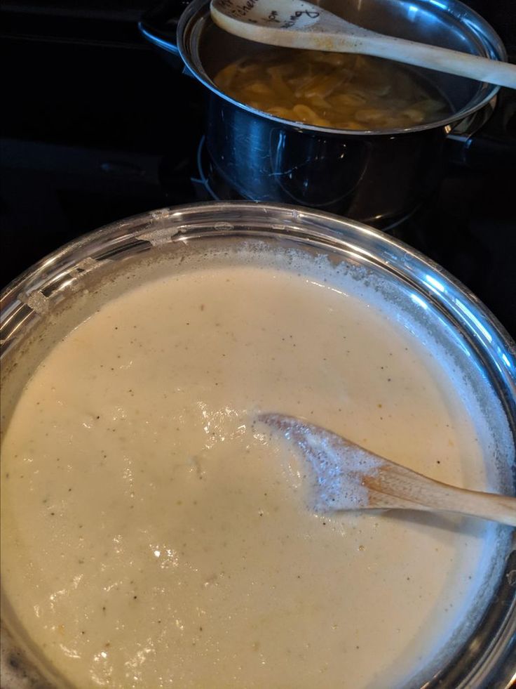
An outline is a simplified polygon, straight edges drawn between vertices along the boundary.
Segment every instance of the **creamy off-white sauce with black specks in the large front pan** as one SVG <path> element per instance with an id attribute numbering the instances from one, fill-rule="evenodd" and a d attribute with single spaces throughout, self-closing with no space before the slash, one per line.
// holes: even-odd
<path id="1" fill-rule="evenodd" d="M 441 362 L 352 280 L 237 261 L 140 282 L 53 348 L 5 434 L 3 588 L 25 634 L 81 689 L 410 685 L 463 625 L 494 527 L 314 513 L 254 419 L 300 415 L 481 489 Z"/>

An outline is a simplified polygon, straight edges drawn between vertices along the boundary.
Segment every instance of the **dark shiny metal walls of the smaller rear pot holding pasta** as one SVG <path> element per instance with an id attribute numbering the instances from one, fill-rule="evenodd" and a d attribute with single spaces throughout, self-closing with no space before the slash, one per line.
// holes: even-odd
<path id="1" fill-rule="evenodd" d="M 505 50 L 494 29 L 457 0 L 322 0 L 351 21 L 400 38 L 498 60 Z M 449 101 L 453 115 L 392 131 L 345 131 L 301 125 L 254 110 L 219 91 L 212 79 L 242 55 L 264 46 L 223 32 L 206 0 L 165 1 L 140 22 L 144 37 L 180 55 L 208 89 L 206 145 L 217 172 L 241 197 L 301 204 L 388 227 L 435 190 L 449 133 L 464 131 L 475 113 L 492 109 L 498 87 L 414 68 Z M 491 105 L 490 105 L 491 104 Z M 488 112 L 489 111 L 489 112 Z"/>

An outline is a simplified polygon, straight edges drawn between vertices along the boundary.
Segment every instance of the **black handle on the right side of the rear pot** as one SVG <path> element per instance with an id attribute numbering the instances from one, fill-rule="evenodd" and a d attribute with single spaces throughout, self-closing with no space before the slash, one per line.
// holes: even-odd
<path id="1" fill-rule="evenodd" d="M 503 89 L 491 117 L 476 131 L 447 137 L 449 160 L 473 170 L 514 168 L 516 161 L 516 98 Z"/>

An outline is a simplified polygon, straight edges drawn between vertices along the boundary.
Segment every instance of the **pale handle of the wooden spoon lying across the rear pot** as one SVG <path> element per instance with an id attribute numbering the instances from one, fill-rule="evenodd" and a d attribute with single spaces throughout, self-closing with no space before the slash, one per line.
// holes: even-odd
<path id="1" fill-rule="evenodd" d="M 348 40 L 348 38 L 343 37 L 343 50 Z M 500 60 L 489 60 L 488 58 L 481 58 L 479 55 L 459 53 L 448 48 L 427 46 L 426 44 L 379 34 L 374 37 L 356 37 L 353 43 L 353 52 L 356 53 L 376 55 L 379 58 L 398 60 L 408 65 L 428 67 L 429 70 L 487 81 L 488 84 L 516 88 L 516 66 L 503 63 Z"/>

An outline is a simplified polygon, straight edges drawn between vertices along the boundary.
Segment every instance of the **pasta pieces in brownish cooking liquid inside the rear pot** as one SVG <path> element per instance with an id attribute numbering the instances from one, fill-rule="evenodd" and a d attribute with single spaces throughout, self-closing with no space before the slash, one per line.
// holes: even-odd
<path id="1" fill-rule="evenodd" d="M 450 113 L 407 70 L 367 55 L 268 50 L 226 65 L 215 84 L 257 110 L 337 129 L 409 128 Z"/>

